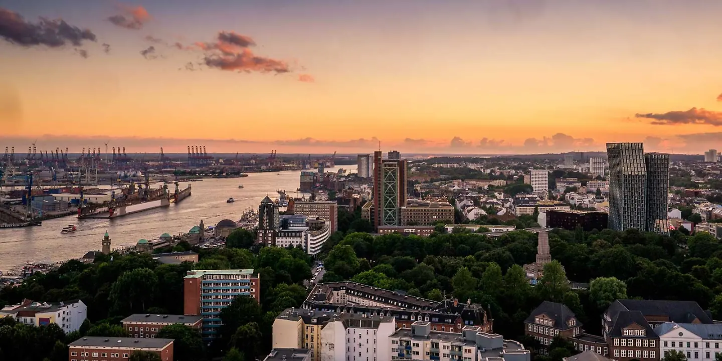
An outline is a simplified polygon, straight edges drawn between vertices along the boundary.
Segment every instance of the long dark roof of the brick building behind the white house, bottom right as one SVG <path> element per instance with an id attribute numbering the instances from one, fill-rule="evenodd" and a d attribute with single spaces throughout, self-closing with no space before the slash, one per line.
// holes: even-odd
<path id="1" fill-rule="evenodd" d="M 615 304 L 622 306 L 622 308 L 617 308 L 619 310 L 638 310 L 645 317 L 668 316 L 669 322 L 692 323 L 696 318 L 700 323 L 713 323 L 710 315 L 695 301 L 616 300 L 612 306 Z"/>

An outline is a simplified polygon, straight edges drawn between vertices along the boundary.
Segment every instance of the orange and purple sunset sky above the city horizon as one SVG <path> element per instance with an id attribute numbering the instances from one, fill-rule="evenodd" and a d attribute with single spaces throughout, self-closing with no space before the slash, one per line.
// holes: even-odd
<path id="1" fill-rule="evenodd" d="M 0 0 L 0 152 L 722 149 L 720 14 L 710 0 Z"/>

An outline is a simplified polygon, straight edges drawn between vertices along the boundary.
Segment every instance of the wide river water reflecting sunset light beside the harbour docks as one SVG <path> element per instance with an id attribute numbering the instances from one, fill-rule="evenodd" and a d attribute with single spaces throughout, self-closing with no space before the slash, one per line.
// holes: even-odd
<path id="1" fill-rule="evenodd" d="M 328 168 L 356 171 L 356 165 Z M 249 173 L 245 178 L 205 179 L 200 182 L 181 183 L 180 188 L 191 184 L 192 196 L 178 205 L 153 209 L 116 219 L 77 219 L 63 217 L 43 221 L 40 227 L 0 229 L 0 271 L 9 271 L 25 261 L 55 262 L 79 258 L 87 251 L 100 250 L 105 231 L 110 234 L 113 247 L 134 245 L 139 239 L 154 239 L 168 232 L 176 235 L 188 232 L 201 219 L 206 226 L 221 219 L 237 221 L 248 208 L 257 208 L 266 194 L 277 199 L 278 189 L 295 196 L 299 186 L 300 170 L 279 173 Z M 238 185 L 243 184 L 243 189 Z M 169 187 L 173 191 L 173 186 Z M 235 202 L 226 203 L 229 197 Z M 77 225 L 77 232 L 61 234 L 69 224 Z"/>

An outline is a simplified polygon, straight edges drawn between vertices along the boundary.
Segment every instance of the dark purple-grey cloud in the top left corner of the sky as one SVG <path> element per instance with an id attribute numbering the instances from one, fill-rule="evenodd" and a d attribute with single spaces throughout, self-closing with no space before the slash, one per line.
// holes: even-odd
<path id="1" fill-rule="evenodd" d="M 96 41 L 88 29 L 69 25 L 63 19 L 46 19 L 28 22 L 17 12 L 0 8 L 0 38 L 9 43 L 30 47 L 45 45 L 58 48 L 66 44 L 82 46 L 86 41 Z"/>

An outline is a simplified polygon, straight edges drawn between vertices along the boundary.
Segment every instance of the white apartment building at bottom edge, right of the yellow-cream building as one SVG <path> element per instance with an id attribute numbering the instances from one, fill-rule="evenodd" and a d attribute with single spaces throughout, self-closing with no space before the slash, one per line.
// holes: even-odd
<path id="1" fill-rule="evenodd" d="M 391 360 L 393 317 L 358 313 L 334 315 L 321 329 L 321 361 Z"/>

